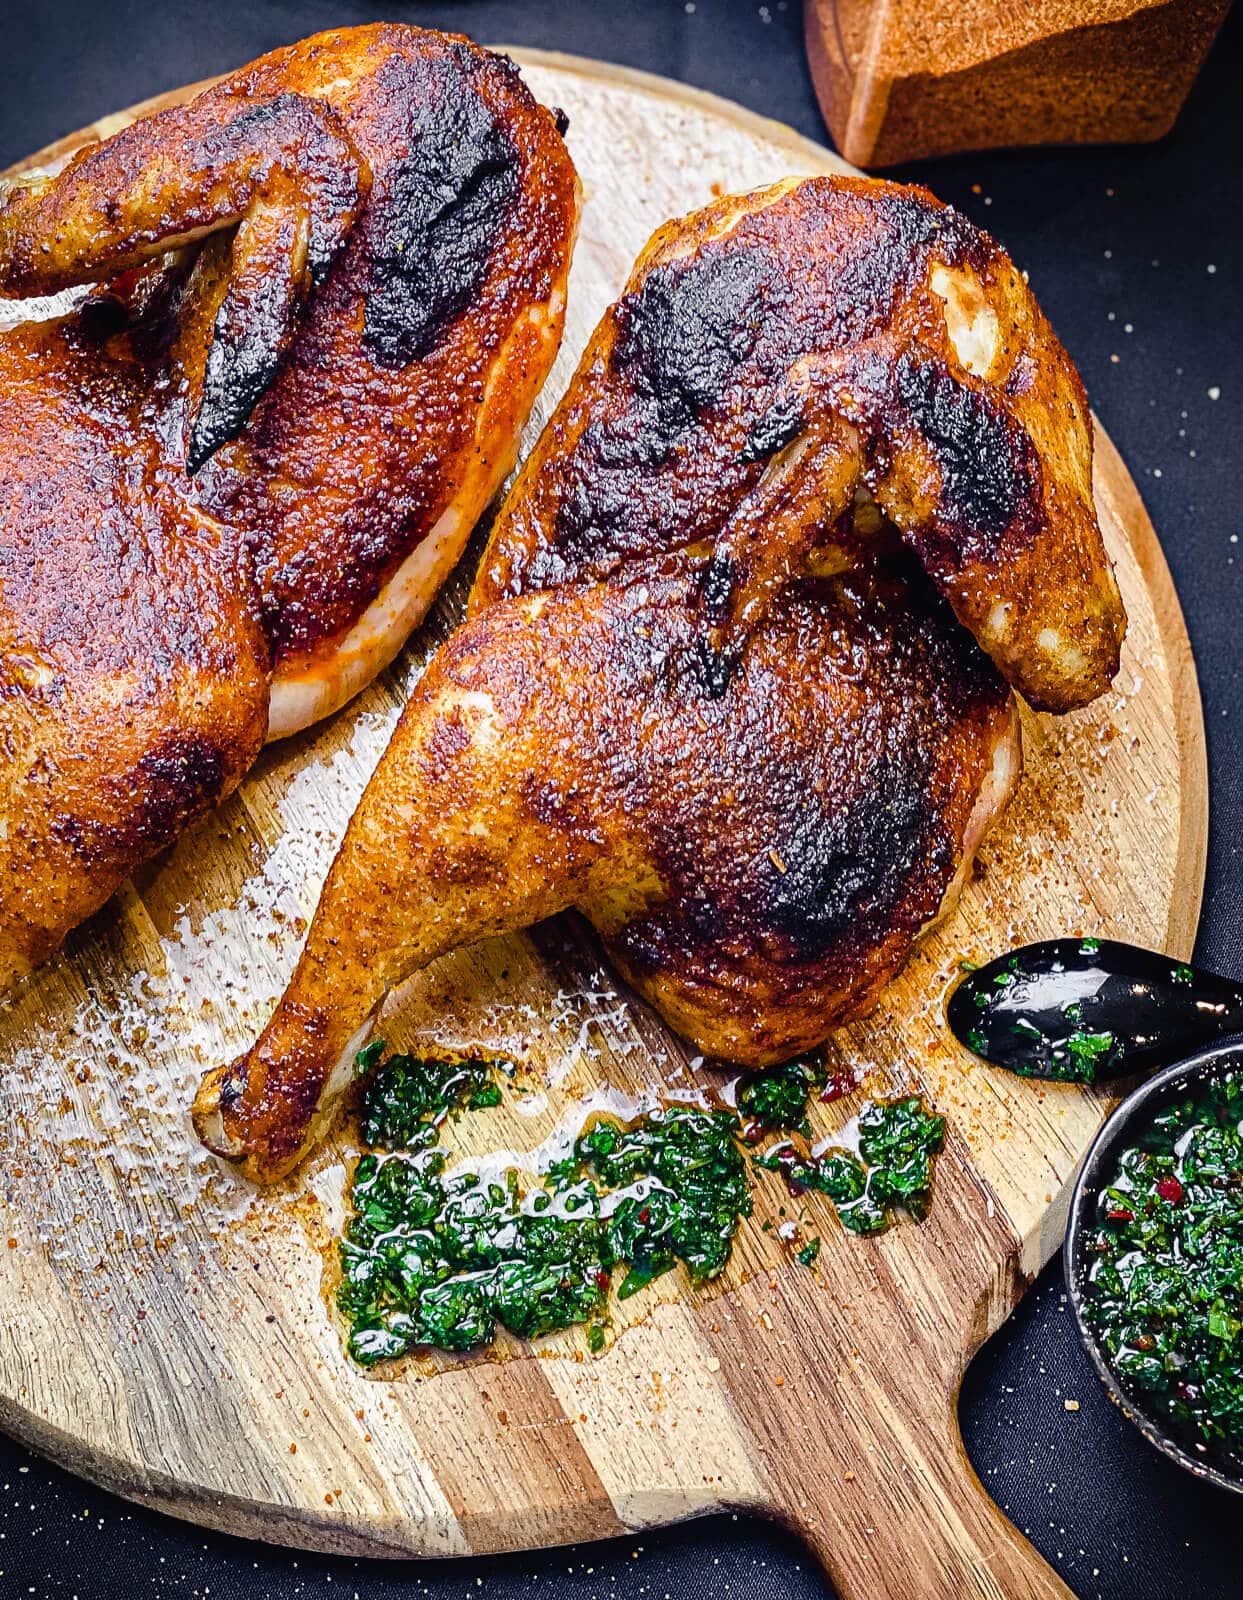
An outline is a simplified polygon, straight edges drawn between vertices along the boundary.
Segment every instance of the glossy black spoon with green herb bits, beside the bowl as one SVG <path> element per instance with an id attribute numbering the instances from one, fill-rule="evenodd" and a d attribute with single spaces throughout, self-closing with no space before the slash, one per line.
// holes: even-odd
<path id="1" fill-rule="evenodd" d="M 1046 939 L 968 973 L 945 1019 L 995 1067 L 1101 1083 L 1243 1032 L 1243 984 L 1134 944 Z"/>

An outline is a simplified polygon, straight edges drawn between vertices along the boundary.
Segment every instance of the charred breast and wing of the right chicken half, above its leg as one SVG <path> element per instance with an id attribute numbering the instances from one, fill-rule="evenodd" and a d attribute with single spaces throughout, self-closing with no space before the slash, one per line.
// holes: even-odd
<path id="1" fill-rule="evenodd" d="M 1088 400 L 1005 251 L 918 187 L 729 197 L 640 256 L 498 518 L 475 603 L 712 539 L 723 674 L 864 493 L 1033 706 L 1109 685 L 1126 616 Z M 856 522 L 851 557 L 862 542 Z"/>

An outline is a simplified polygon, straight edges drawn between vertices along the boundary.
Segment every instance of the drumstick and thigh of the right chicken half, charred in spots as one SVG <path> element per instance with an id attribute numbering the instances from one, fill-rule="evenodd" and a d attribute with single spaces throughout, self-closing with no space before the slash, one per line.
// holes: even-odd
<path id="1" fill-rule="evenodd" d="M 499 602 L 419 682 L 277 1014 L 200 1136 L 285 1173 L 389 989 L 578 907 L 701 1050 L 747 1064 L 872 1005 L 1017 776 L 1013 699 L 921 574 L 800 581 L 723 694 L 702 562 Z"/>

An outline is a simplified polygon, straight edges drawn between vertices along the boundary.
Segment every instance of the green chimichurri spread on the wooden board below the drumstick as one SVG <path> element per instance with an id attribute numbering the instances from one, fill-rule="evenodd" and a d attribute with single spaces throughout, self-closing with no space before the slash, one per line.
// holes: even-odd
<path id="1" fill-rule="evenodd" d="M 633 1122 L 597 1117 L 565 1160 L 523 1186 L 517 1171 L 450 1171 L 438 1142 L 451 1117 L 499 1102 L 504 1064 L 381 1056 L 371 1045 L 358 1058 L 371 1149 L 339 1243 L 338 1306 L 349 1354 L 365 1366 L 426 1346 L 475 1349 L 498 1326 L 530 1339 L 582 1323 L 589 1347 L 603 1347 L 614 1283 L 625 1299 L 678 1262 L 694 1283 L 725 1270 L 752 1211 L 741 1141 L 805 1133 L 808 1099 L 825 1085 L 814 1062 L 787 1062 L 741 1080 L 736 1110 L 670 1104 Z M 925 1214 L 944 1126 L 918 1096 L 873 1101 L 857 1120 L 857 1157 L 824 1152 L 793 1171 L 800 1158 L 785 1144 L 753 1160 L 829 1194 L 851 1232 L 873 1234 L 894 1206 Z M 798 1259 L 813 1266 L 819 1248 L 816 1238 Z"/>

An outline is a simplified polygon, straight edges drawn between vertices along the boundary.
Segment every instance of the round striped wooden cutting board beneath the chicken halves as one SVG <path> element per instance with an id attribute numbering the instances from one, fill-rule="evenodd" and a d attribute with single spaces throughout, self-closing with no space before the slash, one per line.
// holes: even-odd
<path id="1" fill-rule="evenodd" d="M 843 168 L 681 85 L 515 54 L 536 94 L 568 110 L 586 190 L 534 437 L 661 221 Z M 1206 835 L 1195 670 L 1104 435 L 1096 493 L 1131 614 L 1117 686 L 1075 717 L 1025 717 L 1027 773 L 961 909 L 832 1046 L 872 1091 L 915 1086 L 949 1115 L 925 1226 L 854 1240 L 813 1197 L 803 1210 L 824 1248 L 811 1272 L 777 1237 L 782 1186 L 760 1174 L 723 1286 L 645 1290 L 597 1358 L 571 1333 L 381 1378 L 346 1363 L 325 1277 L 347 1134 L 256 1197 L 203 1155 L 186 1107 L 200 1070 L 248 1043 L 280 992 L 398 707 L 461 614 L 464 570 L 394 670 L 328 726 L 267 750 L 0 1013 L 0 1426 L 133 1499 L 323 1550 L 499 1550 L 729 1507 L 797 1528 L 848 1600 L 1064 1595 L 968 1466 L 955 1398 L 1054 1250 L 1105 1099 L 974 1064 L 941 1014 L 961 957 L 1019 939 L 1078 930 L 1192 947 Z M 454 1130 L 466 1150 L 530 1150 L 592 1086 L 704 1077 L 570 918 L 442 962 L 384 1032 L 526 1064 L 506 1109 Z M 817 1107 L 817 1131 L 857 1099 Z"/>

